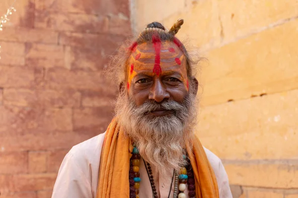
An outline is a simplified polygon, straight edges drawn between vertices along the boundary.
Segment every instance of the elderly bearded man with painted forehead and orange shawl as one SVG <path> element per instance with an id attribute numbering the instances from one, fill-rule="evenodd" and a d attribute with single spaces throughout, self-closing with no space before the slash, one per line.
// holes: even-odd
<path id="1" fill-rule="evenodd" d="M 52 198 L 232 198 L 221 160 L 195 136 L 195 66 L 153 22 L 110 68 L 120 93 L 105 133 L 74 146 Z"/>

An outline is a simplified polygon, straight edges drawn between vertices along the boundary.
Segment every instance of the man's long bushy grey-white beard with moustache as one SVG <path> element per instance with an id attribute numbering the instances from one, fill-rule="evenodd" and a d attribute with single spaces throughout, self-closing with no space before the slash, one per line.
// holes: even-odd
<path id="1" fill-rule="evenodd" d="M 126 135 L 138 147 L 140 155 L 154 166 L 161 177 L 166 170 L 180 170 L 185 165 L 183 154 L 191 147 L 196 118 L 195 96 L 189 94 L 182 104 L 165 101 L 161 104 L 147 102 L 136 106 L 126 93 L 118 96 L 116 117 Z M 174 109 L 166 116 L 152 116 L 146 112 L 162 106 Z"/>

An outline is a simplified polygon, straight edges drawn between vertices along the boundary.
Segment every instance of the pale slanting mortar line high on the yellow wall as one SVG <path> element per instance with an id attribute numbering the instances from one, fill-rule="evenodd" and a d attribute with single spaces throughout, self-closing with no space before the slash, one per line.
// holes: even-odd
<path id="1" fill-rule="evenodd" d="M 276 21 L 276 22 L 274 22 L 274 23 L 271 23 L 271 24 L 269 24 L 269 25 L 267 25 L 267 26 L 263 26 L 263 27 L 261 27 L 261 28 L 258 28 L 258 29 L 256 29 L 256 30 L 254 30 L 254 31 L 251 31 L 250 33 L 248 33 L 248 34 L 246 34 L 246 35 L 238 36 L 238 37 L 236 37 L 236 38 L 233 39 L 233 40 L 223 42 L 222 44 L 220 44 L 220 45 L 218 45 L 218 46 L 212 46 L 212 47 L 210 47 L 210 48 L 205 48 L 205 49 L 204 49 L 204 46 L 208 46 L 210 43 L 205 44 L 205 45 L 202 47 L 202 52 L 207 52 L 207 51 L 210 51 L 210 50 L 213 50 L 213 49 L 219 49 L 219 48 L 222 48 L 222 47 L 224 47 L 224 46 L 226 46 L 226 45 L 228 45 L 228 44 L 235 43 L 235 42 L 237 42 L 237 41 L 239 41 L 239 40 L 241 40 L 241 39 L 248 38 L 248 37 L 250 37 L 250 36 L 252 36 L 252 35 L 261 33 L 261 32 L 263 32 L 263 31 L 265 31 L 265 30 L 273 29 L 273 28 L 275 28 L 275 27 L 284 25 L 284 24 L 286 24 L 286 23 L 288 23 L 288 22 L 295 21 L 295 20 L 297 20 L 297 19 L 298 19 L 298 16 L 294 16 L 294 17 L 291 17 L 291 18 L 286 18 L 286 19 L 278 20 L 278 21 Z"/>

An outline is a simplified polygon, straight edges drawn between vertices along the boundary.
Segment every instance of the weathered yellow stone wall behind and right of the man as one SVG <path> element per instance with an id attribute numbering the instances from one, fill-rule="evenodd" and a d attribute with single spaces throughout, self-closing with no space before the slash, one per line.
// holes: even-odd
<path id="1" fill-rule="evenodd" d="M 185 20 L 209 59 L 198 134 L 224 162 L 234 198 L 298 197 L 298 1 L 133 0 L 134 32 Z"/>

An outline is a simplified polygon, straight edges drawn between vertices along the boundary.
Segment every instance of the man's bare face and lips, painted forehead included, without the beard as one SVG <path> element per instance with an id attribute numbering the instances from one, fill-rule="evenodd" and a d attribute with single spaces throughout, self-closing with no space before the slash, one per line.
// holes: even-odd
<path id="1" fill-rule="evenodd" d="M 139 45 L 129 58 L 127 71 L 128 93 L 136 106 L 148 101 L 182 103 L 189 92 L 186 59 L 174 43 Z M 168 113 L 163 108 L 150 111 L 155 116 Z"/>

